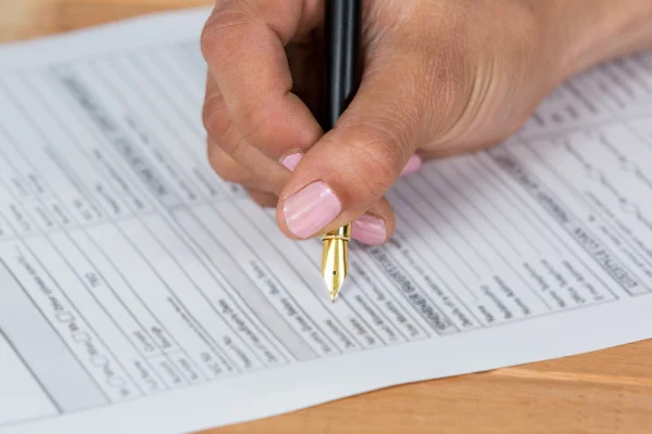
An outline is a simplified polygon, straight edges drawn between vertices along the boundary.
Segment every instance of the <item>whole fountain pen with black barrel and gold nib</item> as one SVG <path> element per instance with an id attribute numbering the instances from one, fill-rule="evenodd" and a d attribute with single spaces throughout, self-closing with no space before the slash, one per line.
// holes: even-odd
<path id="1" fill-rule="evenodd" d="M 347 108 L 360 86 L 362 74 L 361 28 L 362 0 L 326 0 L 325 5 L 325 72 L 322 127 L 328 131 Z M 322 237 L 322 275 L 335 302 L 349 269 L 348 224 Z"/>

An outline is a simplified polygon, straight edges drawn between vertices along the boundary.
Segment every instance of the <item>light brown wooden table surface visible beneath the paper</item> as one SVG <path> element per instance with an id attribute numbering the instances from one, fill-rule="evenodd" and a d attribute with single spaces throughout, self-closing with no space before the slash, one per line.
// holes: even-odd
<path id="1" fill-rule="evenodd" d="M 200 4 L 206 1 L 0 0 L 0 40 Z M 652 433 L 652 341 L 392 387 L 209 433 Z"/>

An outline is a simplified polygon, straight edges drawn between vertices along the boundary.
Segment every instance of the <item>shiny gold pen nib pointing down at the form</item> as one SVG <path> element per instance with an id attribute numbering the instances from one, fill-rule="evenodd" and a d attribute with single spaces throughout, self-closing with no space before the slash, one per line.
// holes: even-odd
<path id="1" fill-rule="evenodd" d="M 350 233 L 351 226 L 347 225 L 322 238 L 324 241 L 322 276 L 324 276 L 324 281 L 328 286 L 330 301 L 334 303 L 349 272 Z"/>

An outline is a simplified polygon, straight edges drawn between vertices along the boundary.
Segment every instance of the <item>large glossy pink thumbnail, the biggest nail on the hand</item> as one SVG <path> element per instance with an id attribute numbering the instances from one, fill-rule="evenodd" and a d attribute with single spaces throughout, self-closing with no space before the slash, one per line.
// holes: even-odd
<path id="1" fill-rule="evenodd" d="M 341 212 L 342 205 L 330 188 L 313 182 L 286 200 L 283 208 L 288 229 L 305 239 L 317 233 Z"/>

